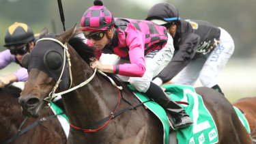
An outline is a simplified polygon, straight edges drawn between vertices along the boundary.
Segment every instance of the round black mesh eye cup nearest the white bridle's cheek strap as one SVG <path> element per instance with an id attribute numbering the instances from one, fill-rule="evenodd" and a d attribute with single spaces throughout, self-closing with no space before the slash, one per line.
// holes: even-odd
<path id="1" fill-rule="evenodd" d="M 44 66 L 50 70 L 59 70 L 63 63 L 61 55 L 57 51 L 48 51 L 44 54 Z"/>

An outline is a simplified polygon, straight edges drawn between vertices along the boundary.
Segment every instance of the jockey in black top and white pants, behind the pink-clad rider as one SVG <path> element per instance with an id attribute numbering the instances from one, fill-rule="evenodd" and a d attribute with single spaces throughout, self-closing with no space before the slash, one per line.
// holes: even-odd
<path id="1" fill-rule="evenodd" d="M 154 5 L 146 20 L 165 26 L 175 48 L 171 62 L 154 79 L 156 85 L 167 83 L 183 69 L 174 83 L 194 85 L 199 78 L 204 87 L 223 93 L 217 76 L 235 47 L 225 29 L 203 20 L 182 20 L 175 6 L 169 3 Z"/>

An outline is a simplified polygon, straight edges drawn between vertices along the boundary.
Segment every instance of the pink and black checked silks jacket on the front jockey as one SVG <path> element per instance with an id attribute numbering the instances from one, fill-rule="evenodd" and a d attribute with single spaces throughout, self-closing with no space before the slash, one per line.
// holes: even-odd
<path id="1" fill-rule="evenodd" d="M 164 27 L 153 25 L 145 20 L 115 18 L 113 31 L 113 38 L 109 44 L 104 46 L 102 53 L 111 53 L 122 57 L 122 59 L 130 59 L 129 66 L 126 64 L 114 66 L 114 73 L 124 76 L 131 76 L 130 74 L 143 76 L 145 72 L 143 57 L 150 51 L 162 49 L 168 40 Z M 88 40 L 87 44 L 90 43 L 91 40 Z M 133 61 L 134 63 L 132 63 Z"/>

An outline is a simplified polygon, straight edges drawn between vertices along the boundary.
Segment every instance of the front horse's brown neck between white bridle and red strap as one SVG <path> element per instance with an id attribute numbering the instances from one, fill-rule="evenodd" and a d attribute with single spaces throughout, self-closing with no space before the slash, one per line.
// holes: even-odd
<path id="1" fill-rule="evenodd" d="M 83 59 L 79 59 L 78 55 L 72 55 L 72 57 L 76 57 L 72 59 L 72 87 L 75 87 L 86 81 L 94 71 Z M 113 92 L 109 89 L 109 85 L 112 87 L 104 78 L 96 74 L 87 85 L 62 96 L 70 122 L 83 126 L 83 124 L 98 121 L 99 117 L 110 115 L 117 104 L 118 97 L 116 96 L 117 100 L 111 102 L 109 94 Z M 115 95 L 117 95 L 117 89 L 115 89 Z"/>

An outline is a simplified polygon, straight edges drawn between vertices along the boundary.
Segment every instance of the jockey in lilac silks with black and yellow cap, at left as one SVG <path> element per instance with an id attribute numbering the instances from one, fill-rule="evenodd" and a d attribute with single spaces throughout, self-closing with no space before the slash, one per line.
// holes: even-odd
<path id="1" fill-rule="evenodd" d="M 8 76 L 0 76 L 0 87 L 5 87 L 5 85 L 13 82 L 27 81 L 29 75 L 27 69 L 21 65 L 21 61 L 23 55 L 30 53 L 38 38 L 39 35 L 34 35 L 32 29 L 25 23 L 16 22 L 8 27 L 5 33 L 5 44 L 3 45 L 7 50 L 0 52 L 0 69 L 5 68 L 12 62 L 18 63 L 21 68 Z M 53 102 L 65 111 L 61 97 L 55 98 Z"/>

